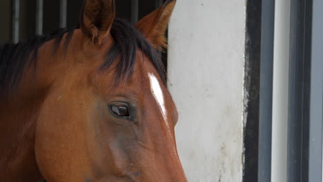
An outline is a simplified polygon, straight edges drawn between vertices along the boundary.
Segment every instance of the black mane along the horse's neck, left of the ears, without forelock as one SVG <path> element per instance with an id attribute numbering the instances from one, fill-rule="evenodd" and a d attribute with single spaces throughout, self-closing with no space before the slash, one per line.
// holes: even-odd
<path id="1" fill-rule="evenodd" d="M 63 34 L 66 32 L 69 32 L 68 37 L 72 37 L 74 30 L 62 28 L 51 34 L 43 34 L 19 41 L 17 44 L 6 43 L 0 45 L 0 97 L 11 94 L 17 89 L 26 65 L 34 65 L 36 68 L 38 50 L 43 43 L 56 39 L 55 49 L 57 49 Z M 30 56 L 32 56 L 32 59 L 28 61 Z"/>

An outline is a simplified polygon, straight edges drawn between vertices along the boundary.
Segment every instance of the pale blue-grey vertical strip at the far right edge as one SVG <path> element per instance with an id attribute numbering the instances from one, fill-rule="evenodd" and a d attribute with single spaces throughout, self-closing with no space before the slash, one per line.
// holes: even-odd
<path id="1" fill-rule="evenodd" d="M 323 127 L 323 1 L 313 0 L 311 96 L 309 132 L 309 182 L 322 181 Z"/>

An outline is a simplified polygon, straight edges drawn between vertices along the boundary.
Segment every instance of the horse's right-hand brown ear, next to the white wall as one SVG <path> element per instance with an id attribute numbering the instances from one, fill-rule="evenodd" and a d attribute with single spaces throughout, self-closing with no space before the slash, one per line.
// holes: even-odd
<path id="1" fill-rule="evenodd" d="M 176 0 L 166 1 L 161 8 L 151 12 L 135 25 L 157 50 L 167 47 L 165 33 L 175 3 Z"/>

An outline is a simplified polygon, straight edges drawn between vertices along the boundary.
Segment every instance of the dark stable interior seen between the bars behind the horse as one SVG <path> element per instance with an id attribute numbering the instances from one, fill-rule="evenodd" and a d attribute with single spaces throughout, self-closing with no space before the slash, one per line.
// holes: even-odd
<path id="1" fill-rule="evenodd" d="M 161 0 L 138 0 L 138 18 L 153 12 L 160 6 Z M 117 0 L 117 17 L 131 20 L 132 0 Z M 59 28 L 60 1 L 43 1 L 43 33 L 50 33 Z M 79 22 L 82 0 L 67 1 L 67 28 L 75 28 Z M 19 10 L 19 39 L 27 39 L 35 35 L 36 0 L 20 0 Z M 0 43 L 12 40 L 12 0 L 0 1 Z"/>

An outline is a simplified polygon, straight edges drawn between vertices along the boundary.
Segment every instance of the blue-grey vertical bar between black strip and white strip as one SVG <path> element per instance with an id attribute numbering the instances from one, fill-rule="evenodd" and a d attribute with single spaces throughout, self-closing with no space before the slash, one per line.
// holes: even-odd
<path id="1" fill-rule="evenodd" d="M 262 41 L 260 50 L 260 123 L 258 181 L 271 181 L 271 127 L 273 107 L 273 40 L 275 1 L 262 1 Z"/>

